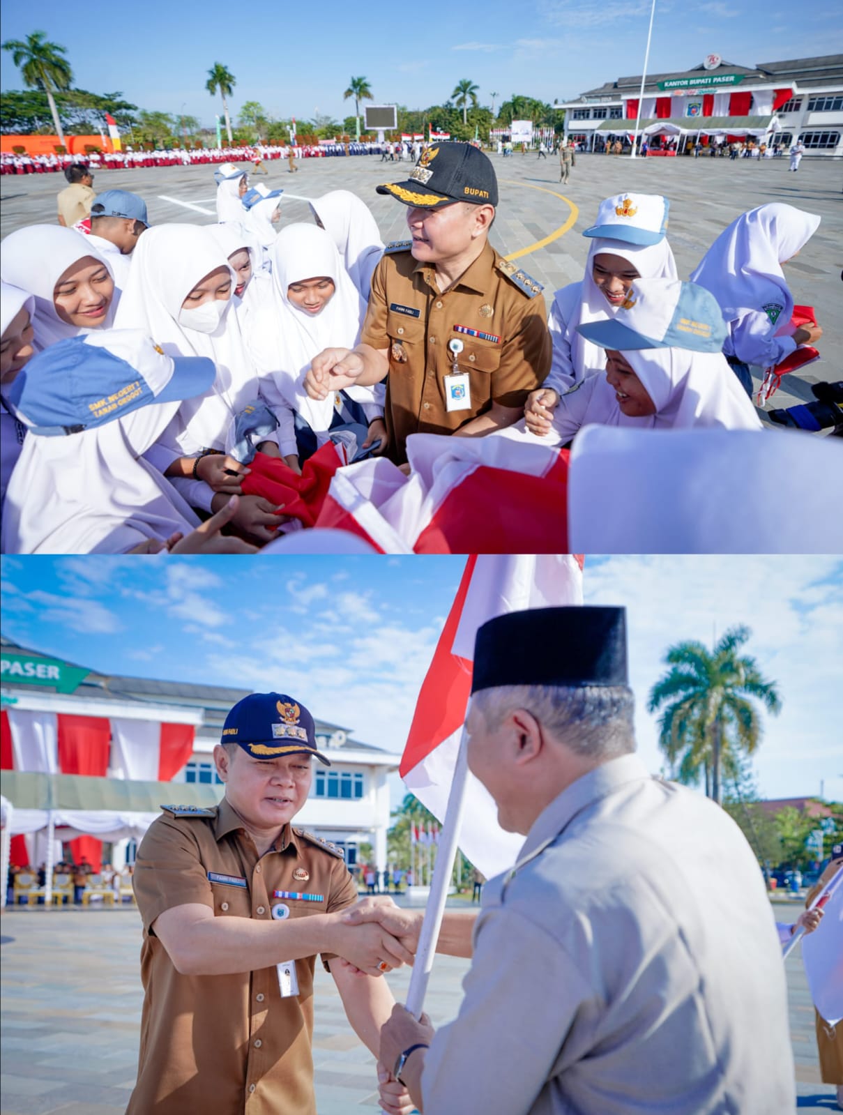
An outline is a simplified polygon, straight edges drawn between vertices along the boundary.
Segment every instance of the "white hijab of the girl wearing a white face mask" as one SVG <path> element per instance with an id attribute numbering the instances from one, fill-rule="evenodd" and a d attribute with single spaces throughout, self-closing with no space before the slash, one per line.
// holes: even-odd
<path id="1" fill-rule="evenodd" d="M 117 312 L 118 329 L 143 329 L 167 356 L 204 356 L 216 365 L 216 379 L 205 395 L 181 404 L 169 436 L 190 455 L 202 449 L 225 449 L 231 419 L 256 394 L 255 371 L 231 300 L 213 333 L 178 322 L 182 303 L 196 283 L 217 268 L 229 265 L 206 227 L 161 224 L 147 229 L 134 251 L 132 274 Z"/>

